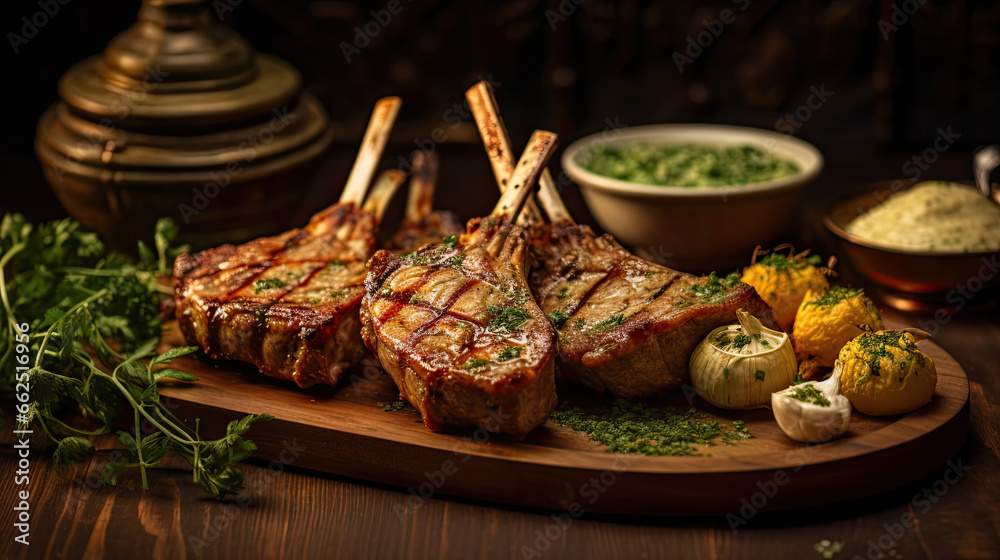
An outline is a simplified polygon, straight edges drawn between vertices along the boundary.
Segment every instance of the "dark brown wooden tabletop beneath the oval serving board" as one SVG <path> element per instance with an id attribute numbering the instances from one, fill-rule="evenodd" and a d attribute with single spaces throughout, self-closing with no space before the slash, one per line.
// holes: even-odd
<path id="1" fill-rule="evenodd" d="M 965 158 L 962 158 L 962 165 Z M 886 176 L 891 176 L 892 169 Z M 868 175 L 872 176 L 872 175 Z M 826 182 L 829 184 L 830 182 Z M 820 185 L 823 187 L 825 185 Z M 820 190 L 817 187 L 813 192 Z M 814 204 L 814 209 L 819 205 Z M 807 212 L 800 244 L 833 248 Z M 859 283 L 846 263 L 841 281 Z M 884 308 L 884 306 L 882 306 Z M 887 318 L 917 325 L 932 315 Z M 833 558 L 1000 557 L 1000 321 L 996 308 L 939 325 L 936 343 L 964 367 L 972 427 L 950 465 L 896 490 L 806 510 L 749 516 L 736 530 L 722 517 L 584 515 L 568 526 L 551 511 L 435 496 L 397 515 L 410 495 L 384 487 L 249 460 L 247 491 L 225 502 L 207 498 L 181 462 L 116 488 L 100 484 L 110 451 L 68 478 L 50 453 L 32 451 L 30 545 L 13 541 L 17 456 L 0 449 L 0 511 L 6 558 L 823 558 L 814 546 L 843 542 Z M 10 415 L 8 414 L 8 419 Z M 10 423 L 0 435 L 11 441 Z M 252 439 L 251 431 L 251 439 Z M 113 441 L 102 442 L 105 449 Z M 349 454 L 350 450 L 343 450 Z M 891 468 L 891 467 L 889 467 Z M 856 473 L 864 477 L 864 472 Z M 488 484 L 489 481 L 484 481 Z M 565 513 L 565 512 L 563 512 Z M 739 512 L 734 512 L 739 514 Z M 913 520 L 913 521 L 911 521 Z"/>

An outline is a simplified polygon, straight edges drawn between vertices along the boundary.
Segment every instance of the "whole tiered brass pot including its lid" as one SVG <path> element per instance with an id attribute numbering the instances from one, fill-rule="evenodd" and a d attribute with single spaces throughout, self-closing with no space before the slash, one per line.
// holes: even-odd
<path id="1" fill-rule="evenodd" d="M 46 179 L 71 216 L 129 253 L 163 216 L 195 248 L 286 229 L 332 138 L 300 74 L 200 0 L 144 0 L 59 96 L 35 139 Z"/>

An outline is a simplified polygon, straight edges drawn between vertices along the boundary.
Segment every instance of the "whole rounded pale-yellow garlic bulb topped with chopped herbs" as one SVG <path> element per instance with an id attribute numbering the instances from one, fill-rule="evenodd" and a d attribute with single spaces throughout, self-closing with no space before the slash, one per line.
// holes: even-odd
<path id="1" fill-rule="evenodd" d="M 760 408 L 771 393 L 788 387 L 798 370 L 795 350 L 783 332 L 764 325 L 742 309 L 738 325 L 713 330 L 691 354 L 691 383 L 719 408 Z"/>

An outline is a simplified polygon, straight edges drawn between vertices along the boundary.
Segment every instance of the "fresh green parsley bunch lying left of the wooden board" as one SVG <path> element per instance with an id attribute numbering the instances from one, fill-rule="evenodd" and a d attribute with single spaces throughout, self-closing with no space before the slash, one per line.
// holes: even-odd
<path id="1" fill-rule="evenodd" d="M 169 275 L 174 257 L 185 250 L 172 247 L 175 235 L 173 223 L 161 220 L 155 249 L 140 242 L 139 262 L 133 263 L 117 254 L 105 256 L 97 236 L 73 220 L 35 226 L 19 214 L 5 215 L 0 221 L 0 393 L 9 396 L 19 383 L 27 384 L 29 413 L 19 415 L 18 423 L 42 428 L 56 444 L 53 463 L 62 472 L 94 452 L 86 436 L 110 433 L 119 404 L 127 402 L 135 432 L 117 431 L 128 454 L 104 468 L 106 483 L 117 484 L 124 469 L 138 468 L 148 488 L 146 470 L 172 451 L 191 464 L 195 482 L 223 497 L 243 490 L 236 463 L 256 449 L 243 436 L 254 422 L 270 416 L 247 415 L 231 422 L 224 437 L 204 440 L 197 421 L 192 430 L 160 402 L 161 383 L 197 381 L 169 367 L 197 348 L 155 351 L 160 305 L 169 293 L 156 276 Z M 29 326 L 27 341 L 18 336 L 17 325 L 23 323 Z M 15 360 L 24 354 L 32 357 L 27 364 Z M 22 372 L 27 367 L 26 375 L 16 376 L 17 367 Z M 73 412 L 98 427 L 70 423 Z M 143 421 L 155 431 L 143 435 Z"/>

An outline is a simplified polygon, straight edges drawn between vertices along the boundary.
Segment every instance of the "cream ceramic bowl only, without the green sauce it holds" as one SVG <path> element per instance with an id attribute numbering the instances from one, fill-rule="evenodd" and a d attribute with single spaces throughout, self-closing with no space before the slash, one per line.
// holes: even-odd
<path id="1" fill-rule="evenodd" d="M 591 147 L 635 143 L 749 144 L 795 162 L 799 172 L 746 185 L 669 187 L 612 179 L 578 161 Z M 597 223 L 618 241 L 674 268 L 706 271 L 749 264 L 756 245 L 776 241 L 796 211 L 802 189 L 823 169 L 823 156 L 812 144 L 770 130 L 663 124 L 581 138 L 566 148 L 562 167 L 580 186 Z"/>

